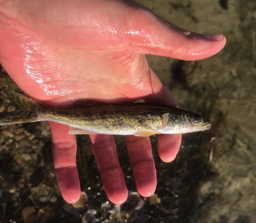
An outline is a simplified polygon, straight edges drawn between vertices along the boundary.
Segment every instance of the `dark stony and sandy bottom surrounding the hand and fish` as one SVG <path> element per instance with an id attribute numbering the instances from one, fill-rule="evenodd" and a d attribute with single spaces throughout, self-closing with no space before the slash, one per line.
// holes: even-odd
<path id="1" fill-rule="evenodd" d="M 137 1 L 185 29 L 223 32 L 225 48 L 201 61 L 148 56 L 149 63 L 183 109 L 213 122 L 186 134 L 172 163 L 157 155 L 156 194 L 136 194 L 123 137 L 116 137 L 129 189 L 121 206 L 102 189 L 87 136 L 78 138 L 83 199 L 63 201 L 52 164 L 48 124 L 0 129 L 0 222 L 256 222 L 256 2 L 239 0 Z M 19 91 L 1 71 L 1 86 Z M 0 112 L 13 106 L 0 92 Z"/>

